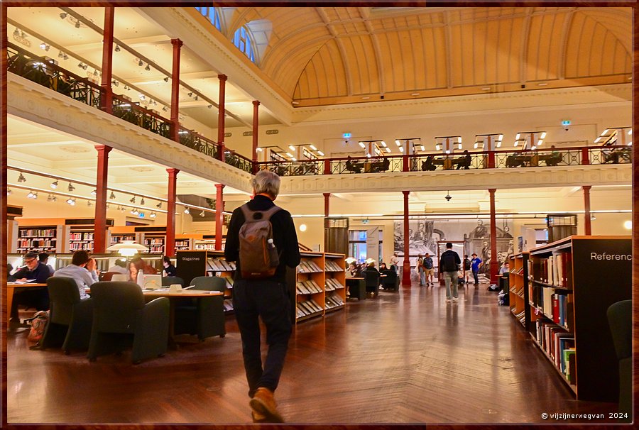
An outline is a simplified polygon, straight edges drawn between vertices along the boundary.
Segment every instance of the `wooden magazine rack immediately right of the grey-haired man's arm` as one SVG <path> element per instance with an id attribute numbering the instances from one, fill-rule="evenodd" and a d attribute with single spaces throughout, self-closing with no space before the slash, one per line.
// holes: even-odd
<path id="1" fill-rule="evenodd" d="M 295 276 L 295 322 L 324 315 L 324 254 L 301 253 Z"/>

